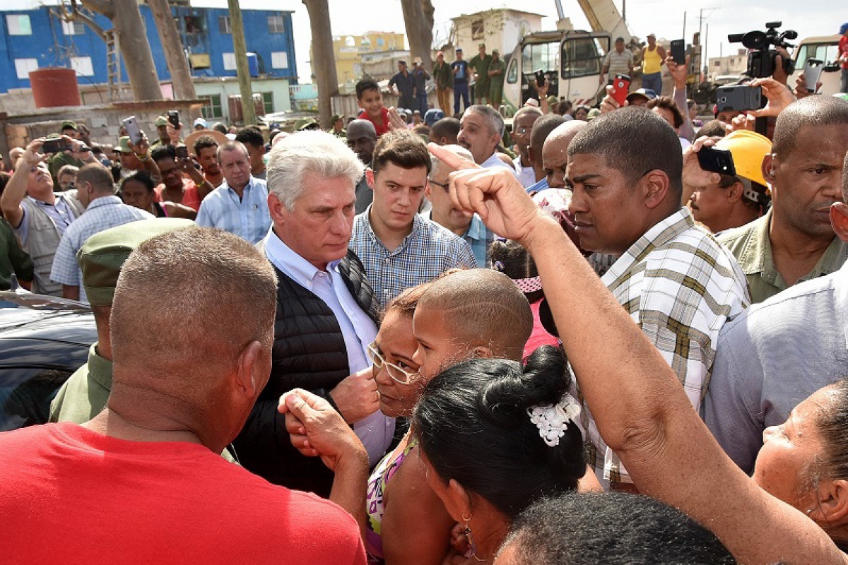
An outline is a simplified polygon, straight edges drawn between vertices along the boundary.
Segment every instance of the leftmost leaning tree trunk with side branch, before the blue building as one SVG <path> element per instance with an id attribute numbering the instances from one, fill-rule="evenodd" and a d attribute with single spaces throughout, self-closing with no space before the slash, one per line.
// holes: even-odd
<path id="1" fill-rule="evenodd" d="M 162 89 L 153 64 L 148 36 L 137 0 L 81 0 L 82 5 L 112 20 L 136 100 L 161 100 Z"/>

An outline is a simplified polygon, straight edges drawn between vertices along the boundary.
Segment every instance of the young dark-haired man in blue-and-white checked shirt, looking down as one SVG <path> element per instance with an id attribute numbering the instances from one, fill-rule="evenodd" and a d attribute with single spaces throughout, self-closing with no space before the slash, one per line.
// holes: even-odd
<path id="1" fill-rule="evenodd" d="M 365 266 L 381 307 L 447 269 L 477 267 L 465 240 L 418 214 L 431 168 L 421 138 L 393 130 L 377 141 L 365 170 L 374 202 L 354 218 L 349 247 Z"/>

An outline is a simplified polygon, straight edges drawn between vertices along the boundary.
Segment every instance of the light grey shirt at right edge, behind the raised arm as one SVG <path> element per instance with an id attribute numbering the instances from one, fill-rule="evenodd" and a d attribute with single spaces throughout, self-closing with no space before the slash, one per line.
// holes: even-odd
<path id="1" fill-rule="evenodd" d="M 702 406 L 730 458 L 750 474 L 762 431 L 848 376 L 848 263 L 799 283 L 725 324 Z"/>

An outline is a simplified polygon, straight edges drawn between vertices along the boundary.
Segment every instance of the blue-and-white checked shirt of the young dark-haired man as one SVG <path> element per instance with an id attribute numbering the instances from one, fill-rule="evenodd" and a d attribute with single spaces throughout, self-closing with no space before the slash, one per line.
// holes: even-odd
<path id="1" fill-rule="evenodd" d="M 421 285 L 447 269 L 474 269 L 477 261 L 460 236 L 441 225 L 415 215 L 410 235 L 393 251 L 377 238 L 365 212 L 354 218 L 354 234 L 349 247 L 359 256 L 368 281 L 381 307 L 410 286 Z"/>

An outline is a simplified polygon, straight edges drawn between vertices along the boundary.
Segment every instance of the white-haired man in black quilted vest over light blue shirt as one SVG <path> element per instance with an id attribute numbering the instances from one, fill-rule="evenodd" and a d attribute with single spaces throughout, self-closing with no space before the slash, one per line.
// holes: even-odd
<path id="1" fill-rule="evenodd" d="M 379 411 L 368 356 L 377 302 L 362 263 L 348 251 L 362 163 L 325 131 L 298 132 L 269 155 L 272 223 L 258 246 L 279 281 L 271 379 L 234 445 L 255 474 L 328 496 L 332 473 L 292 446 L 277 404 L 298 387 L 323 397 L 354 426 L 371 465 L 392 440 L 394 420 Z"/>

